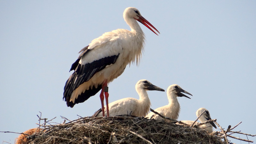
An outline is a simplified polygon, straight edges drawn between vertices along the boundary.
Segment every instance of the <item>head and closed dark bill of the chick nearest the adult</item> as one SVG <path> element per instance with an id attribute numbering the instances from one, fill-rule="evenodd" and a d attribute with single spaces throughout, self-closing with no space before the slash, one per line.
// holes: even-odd
<path id="1" fill-rule="evenodd" d="M 164 89 L 154 84 L 151 84 L 148 80 L 145 80 L 145 79 L 139 80 L 135 85 L 135 89 L 136 90 L 140 89 L 145 91 L 163 91 L 164 92 Z"/>

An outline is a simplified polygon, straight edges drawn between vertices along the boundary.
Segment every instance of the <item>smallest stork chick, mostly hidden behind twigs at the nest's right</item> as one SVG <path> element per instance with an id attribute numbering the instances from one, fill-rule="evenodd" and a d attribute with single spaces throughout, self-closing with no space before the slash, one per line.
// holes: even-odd
<path id="1" fill-rule="evenodd" d="M 204 113 L 203 113 L 204 112 Z M 203 113 L 203 114 L 202 114 Z M 202 116 L 200 116 L 202 114 Z M 197 111 L 196 111 L 196 116 L 200 116 L 198 118 L 198 120 L 203 123 L 205 121 L 208 121 L 208 120 L 211 120 L 211 116 L 210 116 L 210 113 L 207 109 L 205 108 L 199 108 Z M 185 124 L 188 124 L 188 125 L 192 125 L 195 121 L 181 121 Z M 178 123 L 177 123 L 178 124 Z M 200 123 L 196 122 L 195 125 L 198 125 Z M 216 125 L 213 123 L 213 122 L 210 122 L 210 123 L 207 123 L 207 124 L 203 124 L 203 125 L 200 125 L 199 126 L 200 128 L 202 129 L 205 129 L 207 132 L 212 132 L 212 127 L 214 128 L 217 128 Z"/>

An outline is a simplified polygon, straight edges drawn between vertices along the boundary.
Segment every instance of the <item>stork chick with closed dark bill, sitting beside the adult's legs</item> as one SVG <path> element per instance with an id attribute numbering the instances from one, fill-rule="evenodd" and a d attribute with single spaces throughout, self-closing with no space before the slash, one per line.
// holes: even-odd
<path id="1" fill-rule="evenodd" d="M 116 100 L 108 104 L 109 116 L 118 116 L 118 115 L 132 115 L 132 116 L 146 116 L 150 108 L 150 100 L 148 98 L 147 91 L 163 91 L 164 89 L 157 87 L 156 85 L 151 84 L 148 80 L 142 79 L 137 82 L 135 89 L 139 94 L 140 99 L 135 98 L 124 98 Z M 105 106 L 106 108 L 106 106 Z M 106 110 L 104 110 L 106 114 Z M 96 111 L 92 116 L 101 116 L 101 108 Z"/>

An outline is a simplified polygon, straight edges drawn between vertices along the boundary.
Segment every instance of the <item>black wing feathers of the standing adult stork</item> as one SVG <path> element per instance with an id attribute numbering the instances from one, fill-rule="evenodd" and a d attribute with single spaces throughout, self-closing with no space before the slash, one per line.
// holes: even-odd
<path id="1" fill-rule="evenodd" d="M 75 103 L 69 102 L 72 92 L 81 84 L 84 82 L 87 82 L 92 78 L 94 74 L 104 69 L 106 66 L 110 64 L 114 64 L 119 56 L 113 55 L 109 57 L 102 58 L 100 60 L 95 60 L 92 63 L 87 63 L 85 65 L 79 64 L 79 61 L 81 60 L 81 57 L 90 54 L 89 49 L 87 47 L 84 47 L 80 52 L 82 52 L 75 63 L 72 64 L 70 71 L 75 70 L 74 73 L 68 78 L 65 87 L 64 87 L 64 93 L 63 93 L 63 99 L 65 98 L 65 101 L 67 101 L 68 107 L 73 107 L 77 103 L 84 102 L 89 97 L 95 95 L 97 92 L 101 89 L 101 84 L 98 85 L 97 88 L 92 87 L 89 90 L 86 90 L 84 93 L 81 93 L 80 96 L 75 100 Z"/>

